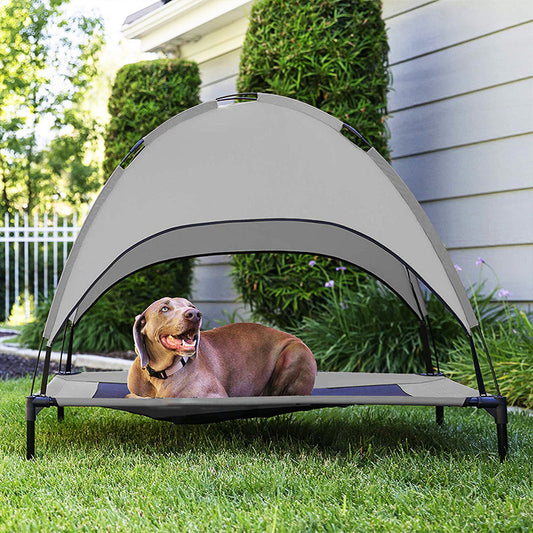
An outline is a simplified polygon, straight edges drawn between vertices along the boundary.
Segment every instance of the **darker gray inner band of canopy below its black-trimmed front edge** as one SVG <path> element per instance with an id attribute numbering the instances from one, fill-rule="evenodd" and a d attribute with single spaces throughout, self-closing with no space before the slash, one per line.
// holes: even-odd
<path id="1" fill-rule="evenodd" d="M 146 265 L 180 257 L 182 254 L 201 256 L 248 251 L 302 251 L 346 260 L 383 280 L 413 312 L 421 316 L 406 268 L 383 248 L 346 229 L 321 223 L 286 220 L 178 228 L 153 237 L 113 264 L 84 297 L 75 321 L 83 316 L 107 288 Z M 163 296 L 165 295 L 161 295 Z M 133 318 L 132 316 L 132 323 Z"/>

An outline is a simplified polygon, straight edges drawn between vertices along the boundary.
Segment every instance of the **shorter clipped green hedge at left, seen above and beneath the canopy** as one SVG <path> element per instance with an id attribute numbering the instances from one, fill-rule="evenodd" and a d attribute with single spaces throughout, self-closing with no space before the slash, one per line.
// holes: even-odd
<path id="1" fill-rule="evenodd" d="M 122 67 L 115 78 L 105 137 L 104 171 L 110 175 L 130 148 L 174 115 L 200 103 L 198 66 L 162 59 Z M 149 186 L 149 180 L 147 182 Z M 188 297 L 193 260 L 178 259 L 148 267 L 115 285 L 87 312 L 76 328 L 75 349 L 107 352 L 131 349 L 135 315 L 164 296 Z M 47 303 L 50 305 L 50 302 Z M 47 314 L 46 305 L 38 316 Z M 41 320 L 25 328 L 23 340 L 35 345 Z"/>

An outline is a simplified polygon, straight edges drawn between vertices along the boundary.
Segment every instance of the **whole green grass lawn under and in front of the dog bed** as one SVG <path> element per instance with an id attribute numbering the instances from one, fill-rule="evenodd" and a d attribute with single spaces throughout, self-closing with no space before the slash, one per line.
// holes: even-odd
<path id="1" fill-rule="evenodd" d="M 533 417 L 500 464 L 475 409 L 350 407 L 175 426 L 100 408 L 37 418 L 0 382 L 0 531 L 531 531 Z"/>

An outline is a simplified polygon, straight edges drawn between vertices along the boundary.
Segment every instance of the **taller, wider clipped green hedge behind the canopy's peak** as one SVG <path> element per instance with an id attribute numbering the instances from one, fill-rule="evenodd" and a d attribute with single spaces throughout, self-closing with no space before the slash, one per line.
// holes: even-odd
<path id="1" fill-rule="evenodd" d="M 237 89 L 319 107 L 353 126 L 388 158 L 387 53 L 380 0 L 258 0 Z M 324 284 L 331 281 L 325 271 L 337 268 L 343 267 L 308 255 L 244 254 L 233 258 L 233 279 L 256 320 L 291 329 L 323 308 Z M 350 286 L 356 282 L 345 279 Z"/>

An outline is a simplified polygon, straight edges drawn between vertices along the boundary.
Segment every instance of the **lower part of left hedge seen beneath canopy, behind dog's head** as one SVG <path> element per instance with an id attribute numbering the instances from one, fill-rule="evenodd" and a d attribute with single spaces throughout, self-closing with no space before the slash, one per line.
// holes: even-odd
<path id="1" fill-rule="evenodd" d="M 188 295 L 191 283 L 192 262 L 182 260 L 166 261 L 122 280 L 82 317 L 75 330 L 74 351 L 131 350 L 135 316 L 158 298 Z M 35 320 L 23 327 L 20 336 L 23 345 L 39 347 L 51 303 L 48 300 L 39 306 Z"/>

